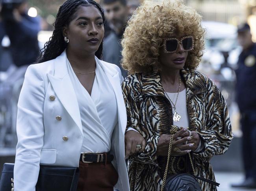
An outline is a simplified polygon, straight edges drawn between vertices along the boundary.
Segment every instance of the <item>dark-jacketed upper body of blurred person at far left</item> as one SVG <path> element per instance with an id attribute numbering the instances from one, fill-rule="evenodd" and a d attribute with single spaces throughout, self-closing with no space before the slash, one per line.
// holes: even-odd
<path id="1" fill-rule="evenodd" d="M 9 37 L 13 63 L 18 67 L 34 63 L 40 53 L 40 19 L 28 15 L 27 0 L 3 0 L 0 23 L 0 42 L 5 35 Z"/>

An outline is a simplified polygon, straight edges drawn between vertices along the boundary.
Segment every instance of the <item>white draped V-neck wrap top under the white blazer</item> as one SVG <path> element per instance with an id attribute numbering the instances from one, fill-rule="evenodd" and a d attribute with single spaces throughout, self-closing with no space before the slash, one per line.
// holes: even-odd
<path id="1" fill-rule="evenodd" d="M 96 62 L 91 96 L 78 80 L 69 60 L 67 67 L 80 109 L 83 145 L 81 153 L 104 153 L 111 149 L 111 136 L 118 122 L 117 101 L 102 67 Z"/>

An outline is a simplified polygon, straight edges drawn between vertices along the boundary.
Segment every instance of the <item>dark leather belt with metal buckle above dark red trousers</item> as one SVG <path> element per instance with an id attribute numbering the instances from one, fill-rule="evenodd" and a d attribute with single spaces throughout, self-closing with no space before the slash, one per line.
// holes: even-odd
<path id="1" fill-rule="evenodd" d="M 113 159 L 114 159 L 114 155 L 110 155 L 108 153 L 93 154 L 93 153 L 85 152 L 80 155 L 80 161 L 82 161 L 83 163 L 112 162 Z"/>

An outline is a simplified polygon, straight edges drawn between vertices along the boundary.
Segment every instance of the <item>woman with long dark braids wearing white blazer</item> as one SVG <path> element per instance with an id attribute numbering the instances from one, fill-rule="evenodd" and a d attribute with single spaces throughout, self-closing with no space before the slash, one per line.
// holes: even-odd
<path id="1" fill-rule="evenodd" d="M 130 190 L 123 78 L 119 67 L 99 60 L 104 22 L 93 0 L 59 8 L 42 63 L 28 67 L 20 93 L 15 191 L 35 191 L 40 164 L 79 167 L 78 191 Z M 126 140 L 129 154 L 145 148 L 135 131 Z"/>

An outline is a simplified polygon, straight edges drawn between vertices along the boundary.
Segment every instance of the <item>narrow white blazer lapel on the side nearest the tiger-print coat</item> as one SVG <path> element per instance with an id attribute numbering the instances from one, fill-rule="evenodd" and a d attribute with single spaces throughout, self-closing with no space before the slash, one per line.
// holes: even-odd
<path id="1" fill-rule="evenodd" d="M 110 64 L 105 64 L 104 61 L 99 60 L 96 56 L 95 59 L 98 61 L 98 64 L 102 67 L 103 71 L 107 75 L 109 82 L 111 83 L 115 97 L 117 99 L 117 110 L 118 110 L 118 123 L 119 127 L 122 129 L 122 133 L 125 133 L 126 124 L 127 124 L 127 116 L 126 116 L 126 107 L 124 104 L 124 97 L 122 95 L 121 88 L 121 79 L 119 73 L 115 73 L 116 69 L 109 67 Z"/>

